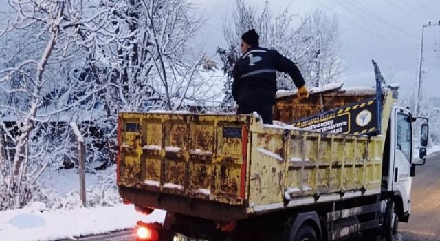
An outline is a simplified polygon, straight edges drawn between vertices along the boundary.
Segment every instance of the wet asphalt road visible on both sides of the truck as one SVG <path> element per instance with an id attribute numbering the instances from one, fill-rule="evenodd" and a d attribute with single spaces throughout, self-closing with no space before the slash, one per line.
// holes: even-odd
<path id="1" fill-rule="evenodd" d="M 398 241 L 440 241 L 440 153 L 428 156 L 412 179 L 411 216 L 399 223 Z M 83 241 L 133 241 L 133 230 L 78 238 Z M 354 240 L 353 240 L 354 241 Z"/>

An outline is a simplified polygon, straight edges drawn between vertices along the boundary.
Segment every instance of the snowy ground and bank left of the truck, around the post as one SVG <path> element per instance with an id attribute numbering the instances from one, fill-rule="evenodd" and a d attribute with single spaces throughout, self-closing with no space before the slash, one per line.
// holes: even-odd
<path id="1" fill-rule="evenodd" d="M 165 211 L 145 216 L 133 205 L 122 205 L 115 185 L 115 165 L 86 172 L 87 208 L 80 203 L 78 169 L 47 169 L 42 179 L 45 203 L 0 212 L 0 240 L 60 240 L 130 229 L 137 220 L 164 220 Z"/>

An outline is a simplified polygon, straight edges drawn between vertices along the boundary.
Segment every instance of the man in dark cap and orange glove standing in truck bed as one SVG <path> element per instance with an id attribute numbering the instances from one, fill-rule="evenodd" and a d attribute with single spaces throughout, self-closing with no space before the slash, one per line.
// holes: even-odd
<path id="1" fill-rule="evenodd" d="M 272 124 L 272 105 L 276 94 L 276 70 L 288 73 L 298 87 L 298 98 L 309 98 L 309 91 L 298 67 L 276 50 L 259 46 L 259 35 L 249 30 L 241 36 L 243 55 L 234 66 L 232 96 L 237 114 L 257 112 L 263 123 Z"/>

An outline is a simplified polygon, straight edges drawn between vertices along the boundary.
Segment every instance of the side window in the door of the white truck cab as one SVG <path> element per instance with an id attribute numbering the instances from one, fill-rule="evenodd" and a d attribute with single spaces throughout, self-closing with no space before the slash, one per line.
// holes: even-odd
<path id="1" fill-rule="evenodd" d="M 412 154 L 412 130 L 411 120 L 406 114 L 397 114 L 397 133 L 396 133 L 396 147 L 405 156 L 408 161 L 411 162 Z"/>

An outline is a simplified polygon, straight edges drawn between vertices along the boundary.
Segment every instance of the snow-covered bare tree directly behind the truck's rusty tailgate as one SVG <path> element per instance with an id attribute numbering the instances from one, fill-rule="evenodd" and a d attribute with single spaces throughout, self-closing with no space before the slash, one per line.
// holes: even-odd
<path id="1" fill-rule="evenodd" d="M 88 158 L 106 162 L 114 160 L 120 111 L 183 109 L 187 101 L 203 103 L 210 85 L 199 77 L 203 51 L 194 41 L 204 19 L 188 1 L 109 0 L 100 8 L 116 3 L 87 70 L 98 85 L 110 84 L 96 96 L 101 115 L 90 115 L 87 127 L 96 131 L 87 140 L 97 144 L 89 145 Z"/>

